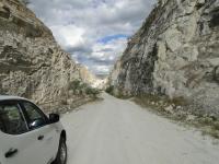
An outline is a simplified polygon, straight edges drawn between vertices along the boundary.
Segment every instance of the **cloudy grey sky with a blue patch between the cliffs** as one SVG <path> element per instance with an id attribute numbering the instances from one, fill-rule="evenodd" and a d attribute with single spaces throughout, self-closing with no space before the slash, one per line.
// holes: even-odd
<path id="1" fill-rule="evenodd" d="M 31 0 L 57 42 L 96 74 L 107 74 L 155 0 Z"/>

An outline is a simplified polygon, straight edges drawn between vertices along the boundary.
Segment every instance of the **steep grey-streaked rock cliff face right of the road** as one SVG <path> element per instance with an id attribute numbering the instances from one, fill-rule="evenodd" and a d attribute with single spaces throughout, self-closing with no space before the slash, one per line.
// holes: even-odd
<path id="1" fill-rule="evenodd" d="M 219 1 L 160 0 L 110 82 L 115 94 L 183 96 L 219 115 Z"/>

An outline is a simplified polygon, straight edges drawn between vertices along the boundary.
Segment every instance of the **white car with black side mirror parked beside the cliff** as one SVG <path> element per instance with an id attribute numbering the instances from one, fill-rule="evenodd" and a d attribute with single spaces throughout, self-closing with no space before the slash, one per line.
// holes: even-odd
<path id="1" fill-rule="evenodd" d="M 0 96 L 0 164 L 66 164 L 66 131 L 59 115 L 34 103 Z"/>

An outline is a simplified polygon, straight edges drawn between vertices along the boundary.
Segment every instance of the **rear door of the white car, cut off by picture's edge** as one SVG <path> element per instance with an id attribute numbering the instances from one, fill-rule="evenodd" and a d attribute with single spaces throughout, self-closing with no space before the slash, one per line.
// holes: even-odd
<path id="1" fill-rule="evenodd" d="M 18 101 L 0 103 L 1 164 L 46 164 L 43 143 L 30 131 Z"/>

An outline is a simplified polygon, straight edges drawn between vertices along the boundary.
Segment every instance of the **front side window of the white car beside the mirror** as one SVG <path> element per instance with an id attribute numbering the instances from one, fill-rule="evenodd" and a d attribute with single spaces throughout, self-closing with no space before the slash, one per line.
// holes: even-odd
<path id="1" fill-rule="evenodd" d="M 23 102 L 22 104 L 27 115 L 27 124 L 31 129 L 36 129 L 46 125 L 45 115 L 36 105 L 30 102 Z"/>

